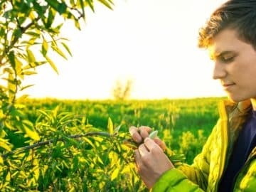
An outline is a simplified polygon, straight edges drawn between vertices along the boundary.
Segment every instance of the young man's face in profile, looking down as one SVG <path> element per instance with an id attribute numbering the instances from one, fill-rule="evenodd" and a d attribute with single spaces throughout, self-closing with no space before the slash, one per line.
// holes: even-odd
<path id="1" fill-rule="evenodd" d="M 214 60 L 213 79 L 219 79 L 228 97 L 240 102 L 256 97 L 256 51 L 238 39 L 235 30 L 224 29 L 208 50 Z"/>

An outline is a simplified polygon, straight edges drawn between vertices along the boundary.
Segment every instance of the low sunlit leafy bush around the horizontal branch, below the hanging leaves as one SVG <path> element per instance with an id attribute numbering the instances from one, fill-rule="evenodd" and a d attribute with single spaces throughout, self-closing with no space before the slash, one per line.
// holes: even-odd
<path id="1" fill-rule="evenodd" d="M 40 112 L 41 141 L 2 155 L 1 189 L 9 191 L 139 191 L 126 134 L 87 124 L 85 118 L 55 110 Z M 111 122 L 109 122 L 111 124 Z M 102 138 L 104 137 L 104 138 Z M 4 160 L 4 161 L 3 161 Z M 122 182 L 121 182 L 122 181 Z"/>

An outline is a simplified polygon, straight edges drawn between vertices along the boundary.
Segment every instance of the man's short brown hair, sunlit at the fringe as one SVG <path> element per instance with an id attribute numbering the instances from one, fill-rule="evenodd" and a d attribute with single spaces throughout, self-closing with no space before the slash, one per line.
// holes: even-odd
<path id="1" fill-rule="evenodd" d="M 256 50 L 256 0 L 229 0 L 222 4 L 199 30 L 198 47 L 208 48 L 210 41 L 225 28 L 235 29 L 238 38 Z"/>

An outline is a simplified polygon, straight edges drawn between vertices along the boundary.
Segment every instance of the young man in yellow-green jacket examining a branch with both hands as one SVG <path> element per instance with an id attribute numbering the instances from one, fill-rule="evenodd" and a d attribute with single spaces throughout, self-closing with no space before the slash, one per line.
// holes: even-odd
<path id="1" fill-rule="evenodd" d="M 192 165 L 174 167 L 150 127 L 130 127 L 139 175 L 153 191 L 256 191 L 256 0 L 230 0 L 199 32 L 214 61 L 213 78 L 230 100 Z M 138 131 L 139 130 L 139 131 Z"/>

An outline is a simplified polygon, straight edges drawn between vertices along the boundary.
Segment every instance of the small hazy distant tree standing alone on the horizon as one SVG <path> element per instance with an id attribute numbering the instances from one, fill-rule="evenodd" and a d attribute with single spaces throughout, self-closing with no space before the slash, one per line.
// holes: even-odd
<path id="1" fill-rule="evenodd" d="M 132 80 L 127 80 L 125 85 L 120 80 L 117 80 L 114 89 L 112 90 L 114 100 L 127 100 L 132 91 Z"/>

